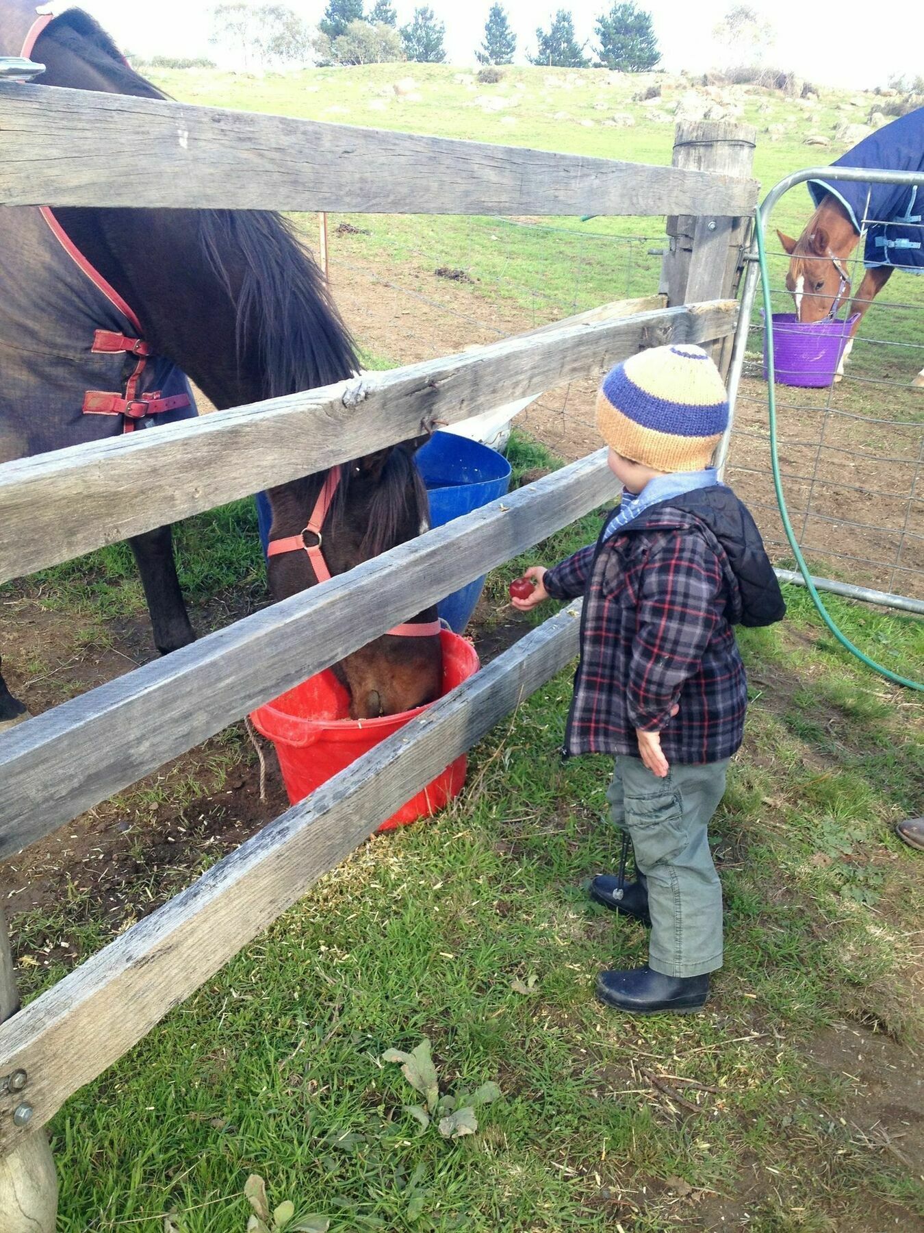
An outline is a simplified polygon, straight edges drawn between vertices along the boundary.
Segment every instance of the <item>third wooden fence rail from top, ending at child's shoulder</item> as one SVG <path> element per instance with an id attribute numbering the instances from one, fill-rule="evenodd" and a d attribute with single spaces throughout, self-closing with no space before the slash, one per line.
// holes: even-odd
<path id="1" fill-rule="evenodd" d="M 601 450 L 20 724 L 0 741 L 0 859 L 615 493 Z"/>

